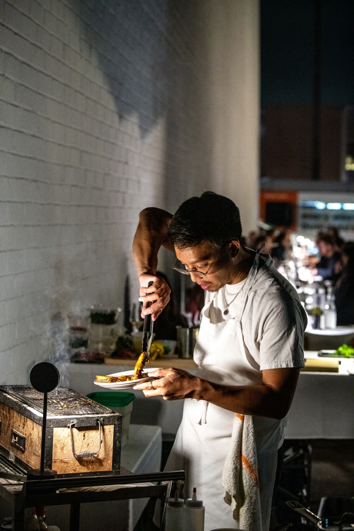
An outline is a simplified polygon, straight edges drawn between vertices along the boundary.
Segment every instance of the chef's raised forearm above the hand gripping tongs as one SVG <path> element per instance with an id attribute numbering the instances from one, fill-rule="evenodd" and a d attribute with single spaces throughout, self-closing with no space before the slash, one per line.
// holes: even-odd
<path id="1" fill-rule="evenodd" d="M 139 215 L 139 225 L 133 241 L 133 256 L 137 274 L 156 273 L 157 255 L 166 245 L 169 221 L 172 215 L 158 208 L 147 208 Z"/>

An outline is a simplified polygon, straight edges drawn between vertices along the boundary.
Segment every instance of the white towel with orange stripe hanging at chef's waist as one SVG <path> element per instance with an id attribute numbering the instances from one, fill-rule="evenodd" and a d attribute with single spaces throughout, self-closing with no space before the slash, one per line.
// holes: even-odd
<path id="1" fill-rule="evenodd" d="M 241 529 L 262 531 L 260 483 L 253 418 L 236 413 L 230 450 L 222 470 L 224 500 Z"/>

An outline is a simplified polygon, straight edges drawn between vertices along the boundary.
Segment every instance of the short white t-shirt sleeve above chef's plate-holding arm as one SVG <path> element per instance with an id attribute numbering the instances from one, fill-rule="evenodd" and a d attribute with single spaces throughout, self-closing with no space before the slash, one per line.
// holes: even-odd
<path id="1" fill-rule="evenodd" d="M 260 370 L 304 367 L 306 313 L 292 297 L 280 300 L 263 322 Z"/>

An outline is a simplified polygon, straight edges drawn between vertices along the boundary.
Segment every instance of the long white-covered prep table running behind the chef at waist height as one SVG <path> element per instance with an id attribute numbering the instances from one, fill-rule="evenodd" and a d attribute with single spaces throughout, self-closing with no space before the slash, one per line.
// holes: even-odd
<path id="1" fill-rule="evenodd" d="M 305 357 L 317 357 L 305 352 Z M 129 370 L 121 367 L 119 370 Z M 117 372 L 115 365 L 70 364 L 70 386 L 84 395 L 97 391 L 94 375 Z M 189 372 L 193 370 L 188 369 Z M 98 372 L 97 372 L 98 371 Z M 341 360 L 338 373 L 301 372 L 289 414 L 286 436 L 289 439 L 354 439 L 354 361 Z M 183 400 L 145 398 L 134 392 L 132 421 L 161 426 L 162 433 L 176 434 L 183 413 Z"/>

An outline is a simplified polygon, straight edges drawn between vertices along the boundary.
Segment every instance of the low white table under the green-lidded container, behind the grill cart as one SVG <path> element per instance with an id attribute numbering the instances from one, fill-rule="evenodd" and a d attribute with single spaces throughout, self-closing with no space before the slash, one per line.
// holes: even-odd
<path id="1" fill-rule="evenodd" d="M 162 434 L 159 426 L 131 425 L 129 439 L 122 448 L 120 465 L 131 472 L 159 472 Z M 82 503 L 80 529 L 86 531 L 133 531 L 148 499 Z M 67 531 L 70 508 L 47 508 L 47 521 Z"/>

